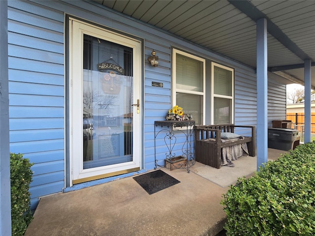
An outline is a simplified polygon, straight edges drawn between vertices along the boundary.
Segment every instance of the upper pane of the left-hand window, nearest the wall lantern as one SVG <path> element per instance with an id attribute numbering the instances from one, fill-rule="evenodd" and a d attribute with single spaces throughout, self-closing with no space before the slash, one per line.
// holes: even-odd
<path id="1" fill-rule="evenodd" d="M 203 62 L 176 54 L 176 89 L 203 91 Z"/>

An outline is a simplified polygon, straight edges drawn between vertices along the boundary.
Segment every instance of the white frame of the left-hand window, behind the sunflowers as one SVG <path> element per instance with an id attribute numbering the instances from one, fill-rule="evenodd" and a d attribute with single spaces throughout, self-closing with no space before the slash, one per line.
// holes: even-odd
<path id="1" fill-rule="evenodd" d="M 203 64 L 203 88 L 202 92 L 198 91 L 190 91 L 186 89 L 176 89 L 176 55 L 180 54 L 183 56 L 186 56 L 191 59 L 199 60 Z M 200 58 L 197 56 L 194 56 L 192 54 L 180 51 L 178 49 L 173 49 L 173 55 L 172 55 L 172 107 L 177 105 L 176 104 L 176 92 L 181 92 L 181 93 L 187 93 L 187 94 L 196 94 L 196 95 L 201 95 L 202 96 L 202 124 L 205 124 L 205 118 L 206 118 L 206 59 Z M 185 110 L 185 107 L 184 107 Z M 193 119 L 193 117 L 192 117 Z"/>

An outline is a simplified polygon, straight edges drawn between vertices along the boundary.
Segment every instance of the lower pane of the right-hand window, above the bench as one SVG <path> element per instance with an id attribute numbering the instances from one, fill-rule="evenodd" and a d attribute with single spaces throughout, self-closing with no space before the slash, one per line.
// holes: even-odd
<path id="1" fill-rule="evenodd" d="M 232 100 L 226 98 L 214 98 L 214 123 L 230 124 Z"/>

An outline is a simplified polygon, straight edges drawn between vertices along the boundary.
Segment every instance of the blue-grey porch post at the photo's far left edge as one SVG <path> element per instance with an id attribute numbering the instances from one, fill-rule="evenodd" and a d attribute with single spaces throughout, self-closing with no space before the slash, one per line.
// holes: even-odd
<path id="1" fill-rule="evenodd" d="M 0 235 L 11 235 L 8 95 L 8 5 L 0 0 Z"/>

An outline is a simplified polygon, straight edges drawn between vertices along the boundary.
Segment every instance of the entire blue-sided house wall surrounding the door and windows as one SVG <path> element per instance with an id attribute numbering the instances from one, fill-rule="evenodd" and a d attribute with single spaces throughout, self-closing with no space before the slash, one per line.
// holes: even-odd
<path id="1" fill-rule="evenodd" d="M 154 168 L 154 121 L 171 108 L 172 48 L 206 59 L 206 91 L 210 92 L 210 62 L 235 69 L 235 124 L 256 125 L 254 69 L 215 52 L 86 1 L 8 1 L 10 151 L 34 162 L 32 208 L 38 198 L 63 191 L 67 183 L 65 14 L 144 39 L 143 169 Z M 147 58 L 157 52 L 159 66 Z M 272 79 L 272 78 L 271 78 Z M 152 82 L 163 88 L 152 87 Z M 285 86 L 268 83 L 269 120 L 285 118 Z M 210 104 L 210 94 L 206 95 Z M 284 102 L 283 102 L 284 101 Z M 210 107 L 206 124 L 210 123 Z M 160 153 L 165 149 L 160 148 Z"/>

